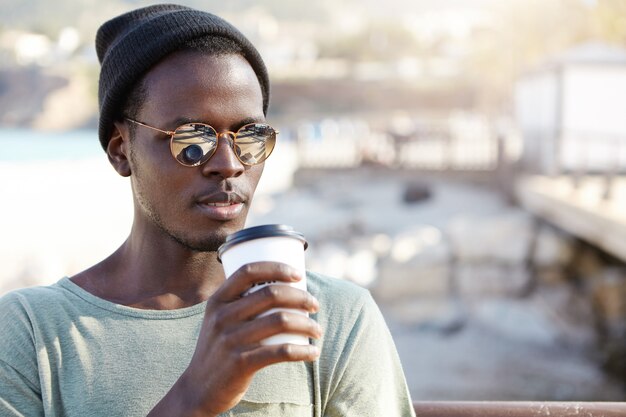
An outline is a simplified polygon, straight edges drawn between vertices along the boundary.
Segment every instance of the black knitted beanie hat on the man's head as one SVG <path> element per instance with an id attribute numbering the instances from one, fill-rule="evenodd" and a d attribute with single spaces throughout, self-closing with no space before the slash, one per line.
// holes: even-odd
<path id="1" fill-rule="evenodd" d="M 207 35 L 231 39 L 241 47 L 261 84 L 263 113 L 267 115 L 267 69 L 259 52 L 239 30 L 218 16 L 189 7 L 175 4 L 148 6 L 105 22 L 96 35 L 96 52 L 102 65 L 98 86 L 98 134 L 105 150 L 115 115 L 135 83 L 185 42 Z"/>

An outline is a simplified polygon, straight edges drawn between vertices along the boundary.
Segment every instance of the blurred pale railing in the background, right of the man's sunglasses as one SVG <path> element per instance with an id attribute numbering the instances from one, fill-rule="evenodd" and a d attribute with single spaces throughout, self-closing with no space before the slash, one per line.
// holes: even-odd
<path id="1" fill-rule="evenodd" d="M 332 128 L 324 128 L 325 123 Z M 299 166 L 354 168 L 374 163 L 429 172 L 492 172 L 498 164 L 501 144 L 482 117 L 465 122 L 425 120 L 405 134 L 361 125 L 364 122 L 331 120 L 318 123 L 318 129 L 300 129 L 304 133 L 297 138 Z"/>

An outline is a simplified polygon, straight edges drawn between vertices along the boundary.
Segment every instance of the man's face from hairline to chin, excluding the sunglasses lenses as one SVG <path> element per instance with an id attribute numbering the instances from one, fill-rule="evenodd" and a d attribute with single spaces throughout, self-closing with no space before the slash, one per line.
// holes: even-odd
<path id="1" fill-rule="evenodd" d="M 261 87 L 239 55 L 178 52 L 145 77 L 138 120 L 163 130 L 203 122 L 219 133 L 264 121 Z M 129 165 L 135 223 L 183 246 L 215 251 L 243 228 L 263 164 L 243 165 L 226 135 L 205 164 L 185 167 L 170 153 L 169 136 L 137 126 Z"/>

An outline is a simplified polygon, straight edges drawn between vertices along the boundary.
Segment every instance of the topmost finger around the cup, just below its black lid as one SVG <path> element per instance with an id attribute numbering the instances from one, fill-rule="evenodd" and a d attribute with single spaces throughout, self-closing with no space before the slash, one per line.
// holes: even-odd
<path id="1" fill-rule="evenodd" d="M 295 283 L 302 278 L 297 269 L 287 264 L 254 262 L 235 271 L 213 295 L 213 298 L 220 302 L 234 301 L 255 284 L 271 281 Z"/>

